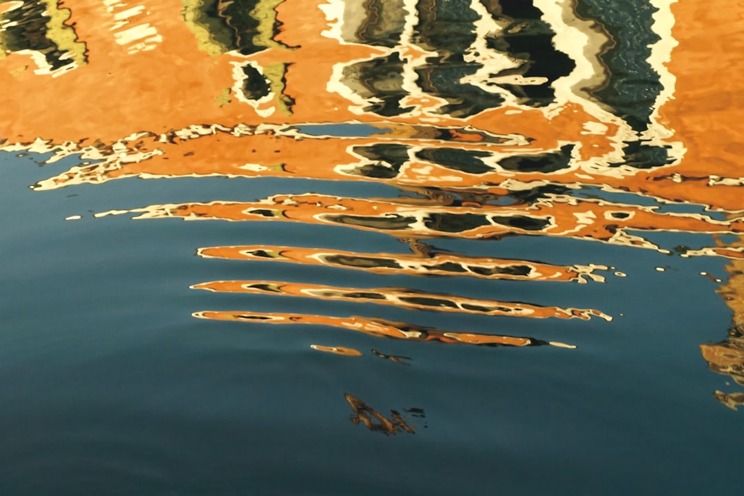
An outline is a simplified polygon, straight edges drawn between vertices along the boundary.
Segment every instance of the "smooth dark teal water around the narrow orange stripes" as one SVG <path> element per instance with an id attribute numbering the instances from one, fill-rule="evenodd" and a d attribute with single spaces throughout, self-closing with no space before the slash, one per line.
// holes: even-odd
<path id="1" fill-rule="evenodd" d="M 722 338 L 730 319 L 714 283 L 699 275 L 723 277 L 720 260 L 570 240 L 461 241 L 458 249 L 476 254 L 612 260 L 629 275 L 568 288 L 414 280 L 427 291 L 580 301 L 624 315 L 612 323 L 417 315 L 424 325 L 533 335 L 577 350 L 449 347 L 324 326 L 201 321 L 190 316 L 196 307 L 317 306 L 188 289 L 202 280 L 303 277 L 343 286 L 348 276 L 204 260 L 194 257 L 199 246 L 301 240 L 392 251 L 396 242 L 322 226 L 92 219 L 92 211 L 166 197 L 250 199 L 271 181 L 130 179 L 83 185 L 74 196 L 36 193 L 28 185 L 65 164 L 39 167 L 33 159 L 2 155 L 4 494 L 648 494 L 663 486 L 693 495 L 733 486 L 741 419 L 712 398 L 727 378 L 706 370 L 698 348 Z M 655 270 L 662 265 L 668 270 Z M 355 274 L 353 282 L 378 286 L 381 277 Z M 324 305 L 334 315 L 410 314 Z M 411 357 L 410 366 L 326 355 L 313 343 L 375 347 Z M 414 435 L 371 432 L 350 422 L 344 393 L 382 413 L 420 408 L 425 418 L 411 417 Z"/>

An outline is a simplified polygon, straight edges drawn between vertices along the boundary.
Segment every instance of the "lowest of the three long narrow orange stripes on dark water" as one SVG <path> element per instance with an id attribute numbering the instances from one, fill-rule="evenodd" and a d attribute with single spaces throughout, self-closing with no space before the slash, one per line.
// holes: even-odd
<path id="1" fill-rule="evenodd" d="M 400 321 L 387 321 L 382 318 L 366 317 L 332 317 L 329 315 L 310 315 L 293 313 L 267 312 L 224 312 L 202 311 L 192 314 L 196 318 L 216 321 L 237 321 L 275 324 L 310 324 L 332 326 L 355 332 L 362 332 L 375 338 L 405 339 L 408 341 L 434 341 L 444 344 L 472 344 L 485 347 L 533 347 L 552 346 L 559 348 L 576 348 L 573 344 L 559 341 L 542 341 L 536 338 L 517 336 L 478 334 L 475 332 L 449 332 L 426 326 L 416 326 Z"/>

